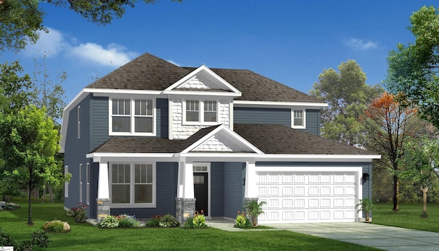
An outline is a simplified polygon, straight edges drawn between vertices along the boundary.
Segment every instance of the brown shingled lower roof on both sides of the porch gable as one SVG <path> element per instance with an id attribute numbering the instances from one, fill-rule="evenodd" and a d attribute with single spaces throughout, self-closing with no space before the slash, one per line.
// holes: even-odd
<path id="1" fill-rule="evenodd" d="M 195 132 L 186 140 L 147 137 L 112 137 L 92 152 L 108 153 L 178 153 L 202 139 L 219 125 Z M 284 125 L 235 124 L 237 134 L 265 154 L 361 154 L 375 155 L 356 147 L 301 132 Z"/>

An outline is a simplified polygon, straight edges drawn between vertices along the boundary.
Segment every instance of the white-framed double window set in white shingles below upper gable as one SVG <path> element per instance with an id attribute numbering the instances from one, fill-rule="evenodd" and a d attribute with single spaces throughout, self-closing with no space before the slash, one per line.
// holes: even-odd
<path id="1" fill-rule="evenodd" d="M 218 101 L 187 99 L 183 104 L 183 121 L 186 124 L 216 124 Z"/>

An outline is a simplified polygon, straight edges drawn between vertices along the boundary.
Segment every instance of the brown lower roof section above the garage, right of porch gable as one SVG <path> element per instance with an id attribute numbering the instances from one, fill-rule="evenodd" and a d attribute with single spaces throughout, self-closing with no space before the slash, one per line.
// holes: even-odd
<path id="1" fill-rule="evenodd" d="M 361 154 L 357 147 L 288 128 L 285 125 L 235 124 L 233 130 L 265 154 Z"/>

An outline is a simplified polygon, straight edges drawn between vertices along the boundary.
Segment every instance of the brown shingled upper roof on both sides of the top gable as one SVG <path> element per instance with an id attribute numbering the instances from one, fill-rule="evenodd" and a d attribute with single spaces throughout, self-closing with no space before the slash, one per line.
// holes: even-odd
<path id="1" fill-rule="evenodd" d="M 163 91 L 195 69 L 195 67 L 178 67 L 150 53 L 145 53 L 86 88 Z M 241 97 L 237 97 L 236 100 L 322 103 L 318 99 L 253 71 L 211 70 L 241 91 Z"/>

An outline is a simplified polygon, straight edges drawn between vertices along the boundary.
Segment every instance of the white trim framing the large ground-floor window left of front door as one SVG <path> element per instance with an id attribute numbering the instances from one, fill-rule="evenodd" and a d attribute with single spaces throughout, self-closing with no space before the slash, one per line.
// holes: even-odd
<path id="1" fill-rule="evenodd" d="M 130 165 L 130 203 L 113 203 L 112 202 L 112 165 Z M 151 203 L 134 203 L 135 198 L 135 165 L 152 165 L 152 202 Z M 156 163 L 155 162 L 129 162 L 129 161 L 115 161 L 108 163 L 108 176 L 110 186 L 110 207 L 111 208 L 155 208 L 156 193 L 157 193 L 157 179 L 156 179 Z"/>

